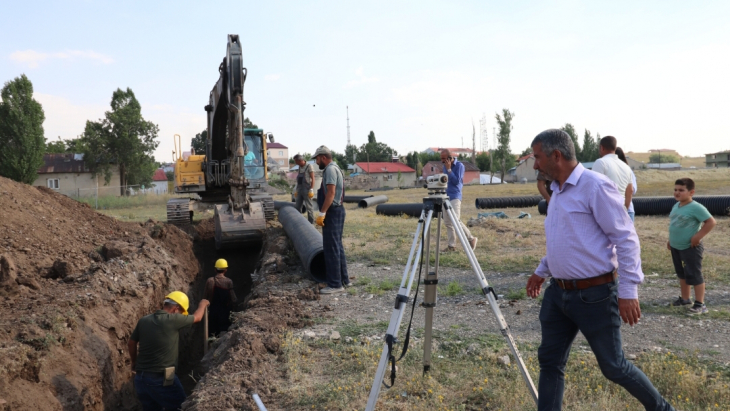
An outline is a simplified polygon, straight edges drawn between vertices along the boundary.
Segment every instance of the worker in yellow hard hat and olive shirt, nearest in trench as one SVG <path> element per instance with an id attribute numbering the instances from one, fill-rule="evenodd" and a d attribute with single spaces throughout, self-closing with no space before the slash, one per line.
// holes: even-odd
<path id="1" fill-rule="evenodd" d="M 188 315 L 188 296 L 173 291 L 165 296 L 161 310 L 137 322 L 127 347 L 132 372 L 136 372 L 134 389 L 143 410 L 177 410 L 182 406 L 185 390 L 175 375 L 179 332 L 200 322 L 209 305 L 208 300 L 200 300 L 195 313 Z"/>

